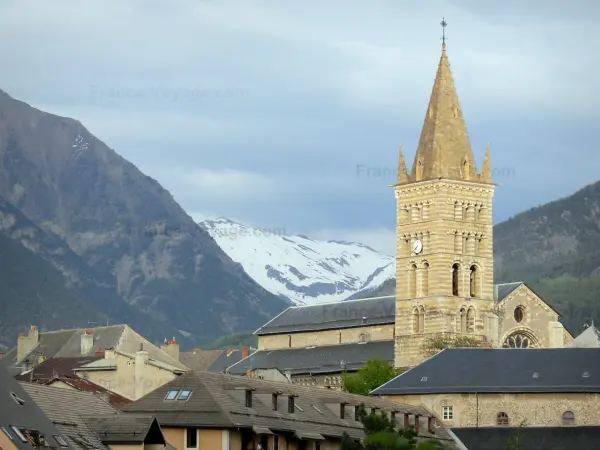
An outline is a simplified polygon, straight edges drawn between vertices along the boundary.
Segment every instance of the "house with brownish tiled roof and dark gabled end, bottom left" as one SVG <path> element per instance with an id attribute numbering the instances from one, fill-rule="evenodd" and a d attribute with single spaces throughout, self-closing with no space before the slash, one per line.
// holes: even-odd
<path id="1" fill-rule="evenodd" d="M 156 417 L 124 414 L 101 395 L 21 383 L 22 388 L 77 450 L 164 450 Z"/>

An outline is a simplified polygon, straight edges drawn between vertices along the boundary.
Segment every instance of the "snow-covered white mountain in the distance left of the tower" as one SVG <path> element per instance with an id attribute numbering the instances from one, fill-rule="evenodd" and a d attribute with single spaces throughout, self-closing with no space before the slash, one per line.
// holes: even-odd
<path id="1" fill-rule="evenodd" d="M 295 304 L 345 300 L 395 276 L 394 257 L 344 241 L 286 236 L 225 218 L 200 222 L 231 259 L 273 294 Z"/>

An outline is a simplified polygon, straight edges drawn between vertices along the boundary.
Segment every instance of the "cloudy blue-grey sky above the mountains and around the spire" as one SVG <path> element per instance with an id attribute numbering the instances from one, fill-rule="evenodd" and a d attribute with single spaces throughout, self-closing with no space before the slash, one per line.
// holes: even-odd
<path id="1" fill-rule="evenodd" d="M 600 179 L 597 0 L 13 0 L 0 89 L 80 120 L 192 217 L 393 253 L 440 20 L 499 222 Z"/>

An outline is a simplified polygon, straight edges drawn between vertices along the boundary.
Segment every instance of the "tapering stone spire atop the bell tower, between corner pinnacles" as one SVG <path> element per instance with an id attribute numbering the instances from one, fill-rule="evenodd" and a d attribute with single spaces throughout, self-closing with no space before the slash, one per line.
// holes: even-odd
<path id="1" fill-rule="evenodd" d="M 477 180 L 475 159 L 446 54 L 446 42 L 411 171 L 414 181 Z"/>

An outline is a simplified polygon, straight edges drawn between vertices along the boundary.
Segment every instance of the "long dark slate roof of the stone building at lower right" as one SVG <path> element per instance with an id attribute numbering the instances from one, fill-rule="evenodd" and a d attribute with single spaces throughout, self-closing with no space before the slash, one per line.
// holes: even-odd
<path id="1" fill-rule="evenodd" d="M 372 394 L 475 392 L 600 393 L 600 349 L 451 348 Z"/>

